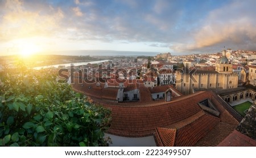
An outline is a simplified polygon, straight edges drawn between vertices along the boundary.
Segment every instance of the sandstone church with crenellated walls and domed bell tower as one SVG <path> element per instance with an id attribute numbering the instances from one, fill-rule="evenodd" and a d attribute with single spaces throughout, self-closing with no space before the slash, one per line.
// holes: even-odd
<path id="1" fill-rule="evenodd" d="M 231 89 L 238 86 L 238 74 L 233 73 L 232 64 L 222 52 L 216 64 L 216 70 L 192 69 L 188 72 L 176 72 L 176 88 L 182 94 L 191 94 L 196 90 Z"/>

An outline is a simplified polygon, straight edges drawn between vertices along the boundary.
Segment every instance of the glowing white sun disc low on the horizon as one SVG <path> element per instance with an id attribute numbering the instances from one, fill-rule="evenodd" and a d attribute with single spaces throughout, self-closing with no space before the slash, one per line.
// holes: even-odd
<path id="1" fill-rule="evenodd" d="M 29 44 L 23 44 L 19 48 L 19 54 L 23 57 L 29 57 L 37 52 L 39 52 L 40 49 L 37 45 L 29 43 Z"/>

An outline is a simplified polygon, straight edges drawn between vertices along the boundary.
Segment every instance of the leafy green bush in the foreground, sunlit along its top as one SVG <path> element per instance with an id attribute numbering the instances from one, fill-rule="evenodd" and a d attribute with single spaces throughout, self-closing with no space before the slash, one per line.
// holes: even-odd
<path id="1" fill-rule="evenodd" d="M 46 75 L 44 75 L 46 74 Z M 5 73 L 0 85 L 0 146 L 104 146 L 110 111 L 92 105 L 51 72 Z"/>

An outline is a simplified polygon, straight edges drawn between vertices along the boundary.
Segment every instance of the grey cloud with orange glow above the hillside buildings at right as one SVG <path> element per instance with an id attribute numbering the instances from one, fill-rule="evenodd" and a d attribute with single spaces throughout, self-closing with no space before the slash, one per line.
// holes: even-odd
<path id="1" fill-rule="evenodd" d="M 256 50 L 255 5 L 255 1 L 234 1 L 228 6 L 211 11 L 200 30 L 195 32 L 195 43 L 186 49 L 226 46 L 232 49 Z"/>

